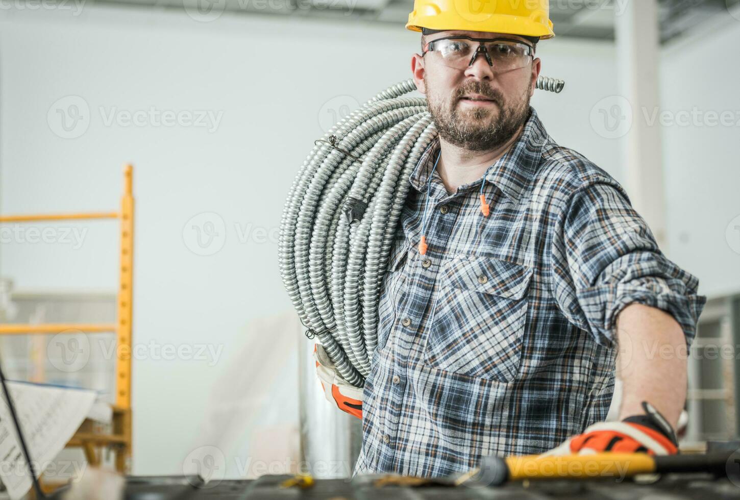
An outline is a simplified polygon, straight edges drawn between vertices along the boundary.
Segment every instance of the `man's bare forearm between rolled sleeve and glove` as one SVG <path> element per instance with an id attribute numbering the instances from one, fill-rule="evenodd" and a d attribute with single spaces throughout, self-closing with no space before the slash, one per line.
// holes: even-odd
<path id="1" fill-rule="evenodd" d="M 619 418 L 644 413 L 650 402 L 673 428 L 686 401 L 687 347 L 681 326 L 670 314 L 642 304 L 630 304 L 617 317 L 622 379 Z"/>

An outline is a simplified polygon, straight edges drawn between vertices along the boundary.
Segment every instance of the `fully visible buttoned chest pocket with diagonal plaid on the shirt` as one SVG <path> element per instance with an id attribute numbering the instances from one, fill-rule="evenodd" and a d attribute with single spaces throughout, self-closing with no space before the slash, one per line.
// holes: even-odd
<path id="1" fill-rule="evenodd" d="M 445 263 L 425 362 L 500 382 L 516 378 L 531 276 L 531 268 L 493 257 L 461 256 Z"/>

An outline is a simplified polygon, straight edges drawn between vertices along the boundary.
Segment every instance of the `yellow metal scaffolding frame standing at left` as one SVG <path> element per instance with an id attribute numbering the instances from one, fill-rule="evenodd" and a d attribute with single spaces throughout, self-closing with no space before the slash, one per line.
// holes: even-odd
<path id="1" fill-rule="evenodd" d="M 132 274 L 133 274 L 133 234 L 134 198 L 132 194 L 133 167 L 124 166 L 124 194 L 121 197 L 120 212 L 89 212 L 70 214 L 32 214 L 0 215 L 0 223 L 39 222 L 50 220 L 91 220 L 118 219 L 121 223 L 120 266 L 118 269 L 118 307 L 115 324 L 110 323 L 45 323 L 45 324 L 4 324 L 0 325 L 0 335 L 53 334 L 72 330 L 87 333 L 115 332 L 119 352 L 131 351 L 132 318 Z M 127 473 L 130 468 L 131 433 L 131 357 L 117 356 L 115 367 L 115 405 L 111 434 L 95 433 L 91 422 L 84 422 L 75 436 L 67 443 L 68 447 L 81 447 L 87 461 L 93 466 L 101 462 L 98 447 L 112 447 L 115 450 L 115 468 Z"/>

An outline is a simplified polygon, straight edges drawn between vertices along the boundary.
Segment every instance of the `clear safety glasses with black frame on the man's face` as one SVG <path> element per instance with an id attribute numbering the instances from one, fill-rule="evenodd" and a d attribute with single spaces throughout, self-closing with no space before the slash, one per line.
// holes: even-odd
<path id="1" fill-rule="evenodd" d="M 532 60 L 532 47 L 506 38 L 449 37 L 430 41 L 424 54 L 448 67 L 464 70 L 477 58 L 483 58 L 494 71 L 519 70 Z"/>

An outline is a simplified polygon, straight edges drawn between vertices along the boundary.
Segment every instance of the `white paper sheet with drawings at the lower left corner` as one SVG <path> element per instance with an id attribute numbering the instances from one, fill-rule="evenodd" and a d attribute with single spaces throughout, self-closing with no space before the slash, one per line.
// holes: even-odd
<path id="1" fill-rule="evenodd" d="M 80 427 L 95 402 L 95 391 L 26 382 L 7 385 L 38 473 Z M 21 499 L 33 485 L 4 394 L 0 397 L 0 480 L 13 500 Z"/>

